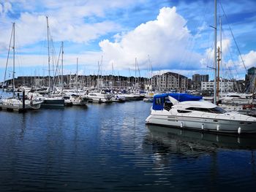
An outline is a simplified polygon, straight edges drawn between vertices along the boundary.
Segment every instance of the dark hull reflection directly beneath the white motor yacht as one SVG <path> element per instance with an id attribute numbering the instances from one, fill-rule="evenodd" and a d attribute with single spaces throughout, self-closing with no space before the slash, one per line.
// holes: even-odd
<path id="1" fill-rule="evenodd" d="M 170 127 L 146 126 L 154 138 L 162 139 L 165 143 L 173 143 L 174 141 L 184 142 L 191 146 L 207 147 L 222 147 L 228 149 L 256 149 L 256 136 L 255 135 L 223 135 L 200 133 L 198 131 L 191 131 L 185 129 L 177 129 Z M 193 145 L 192 145 L 193 144 Z M 180 146 L 182 147 L 182 146 Z"/>

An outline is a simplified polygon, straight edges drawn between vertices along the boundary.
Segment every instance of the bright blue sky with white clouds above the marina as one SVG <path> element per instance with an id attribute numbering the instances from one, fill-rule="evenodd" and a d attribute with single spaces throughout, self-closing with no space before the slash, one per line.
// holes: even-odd
<path id="1" fill-rule="evenodd" d="M 217 1 L 223 78 L 244 79 L 256 66 L 255 8 L 255 0 Z M 0 0 L 0 82 L 6 66 L 12 77 L 12 23 L 15 77 L 59 74 L 61 42 L 64 74 L 214 77 L 214 0 Z"/>

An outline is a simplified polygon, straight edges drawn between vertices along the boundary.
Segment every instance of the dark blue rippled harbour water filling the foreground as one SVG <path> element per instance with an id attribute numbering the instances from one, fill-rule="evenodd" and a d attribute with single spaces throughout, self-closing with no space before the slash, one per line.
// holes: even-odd
<path id="1" fill-rule="evenodd" d="M 255 138 L 146 126 L 151 104 L 0 112 L 0 191 L 255 191 Z"/>

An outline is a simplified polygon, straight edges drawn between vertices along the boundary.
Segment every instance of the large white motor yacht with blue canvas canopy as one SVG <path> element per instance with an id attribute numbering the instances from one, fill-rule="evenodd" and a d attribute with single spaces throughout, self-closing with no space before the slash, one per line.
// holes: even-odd
<path id="1" fill-rule="evenodd" d="M 200 100 L 200 97 L 186 99 L 184 96 L 172 96 L 172 93 L 154 96 L 151 115 L 146 118 L 146 123 L 197 131 L 256 133 L 256 118 L 226 112 L 216 104 Z"/>

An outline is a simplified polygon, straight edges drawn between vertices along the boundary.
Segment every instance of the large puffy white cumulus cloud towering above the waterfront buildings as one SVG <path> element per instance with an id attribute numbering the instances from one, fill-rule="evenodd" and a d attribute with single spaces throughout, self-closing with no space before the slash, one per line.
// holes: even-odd
<path id="1" fill-rule="evenodd" d="M 175 69 L 186 59 L 184 54 L 192 36 L 187 21 L 178 15 L 176 7 L 163 7 L 156 20 L 140 24 L 133 31 L 115 37 L 114 42 L 109 39 L 99 42 L 109 67 L 114 63 L 118 69 L 135 68 L 135 58 L 138 58 L 140 68 L 146 69 L 149 55 L 153 67 Z M 195 55 L 190 59 L 193 57 Z"/>

